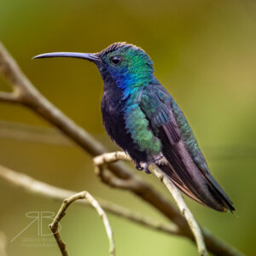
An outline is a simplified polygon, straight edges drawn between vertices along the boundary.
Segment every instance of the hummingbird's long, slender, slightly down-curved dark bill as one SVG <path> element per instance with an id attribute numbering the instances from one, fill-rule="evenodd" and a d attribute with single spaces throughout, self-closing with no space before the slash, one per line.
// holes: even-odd
<path id="1" fill-rule="evenodd" d="M 87 53 L 79 53 L 79 52 L 51 52 L 43 55 L 36 55 L 32 59 L 55 58 L 55 57 L 79 58 L 79 59 L 84 59 L 92 62 L 100 61 L 100 58 L 96 54 L 87 54 Z"/>

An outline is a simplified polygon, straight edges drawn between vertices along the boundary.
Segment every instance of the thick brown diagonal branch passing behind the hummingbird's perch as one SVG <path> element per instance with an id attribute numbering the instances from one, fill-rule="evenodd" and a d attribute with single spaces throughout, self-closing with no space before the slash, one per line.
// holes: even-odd
<path id="1" fill-rule="evenodd" d="M 20 71 L 15 60 L 9 55 L 3 44 L 0 44 L 0 73 L 9 82 L 17 96 L 16 101 L 27 108 L 31 108 L 33 112 L 37 113 L 43 119 L 47 120 L 50 124 L 58 128 L 62 133 L 66 134 L 74 143 L 77 143 L 81 148 L 89 153 L 91 156 L 104 154 L 107 152 L 95 138 L 91 137 L 86 131 L 76 125 L 73 120 L 68 119 L 64 113 L 50 103 L 26 76 Z M 1 102 L 1 101 L 0 101 Z M 195 241 L 194 236 L 189 230 L 187 221 L 179 212 L 176 207 L 170 203 L 163 195 L 158 193 L 152 186 L 143 181 L 143 179 L 130 169 L 125 168 L 123 165 L 109 165 L 108 170 L 113 172 L 116 177 L 122 179 L 133 180 L 137 189 L 131 190 L 135 195 L 147 201 L 159 212 L 164 214 L 167 218 L 172 220 L 180 230 L 183 230 L 183 236 L 188 237 L 191 241 Z M 139 186 L 138 186 L 139 185 Z M 212 253 L 217 255 L 239 255 L 233 248 L 225 245 L 216 237 L 211 236 L 208 232 L 204 232 L 207 248 Z"/>

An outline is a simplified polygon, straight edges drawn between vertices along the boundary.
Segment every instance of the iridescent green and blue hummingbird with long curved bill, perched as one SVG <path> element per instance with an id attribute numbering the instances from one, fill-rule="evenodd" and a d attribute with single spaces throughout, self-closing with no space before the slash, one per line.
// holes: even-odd
<path id="1" fill-rule="evenodd" d="M 183 111 L 154 76 L 146 52 L 114 43 L 98 53 L 53 52 L 34 59 L 72 57 L 96 64 L 102 75 L 102 120 L 109 137 L 138 170 L 155 164 L 178 189 L 218 212 L 235 211 L 212 177 Z"/>

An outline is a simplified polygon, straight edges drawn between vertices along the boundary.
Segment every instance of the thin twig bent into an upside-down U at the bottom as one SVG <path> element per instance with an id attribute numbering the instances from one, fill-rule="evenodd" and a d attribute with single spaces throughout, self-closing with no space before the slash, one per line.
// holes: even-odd
<path id="1" fill-rule="evenodd" d="M 67 256 L 68 254 L 67 254 L 66 245 L 61 240 L 61 236 L 58 231 L 58 226 L 61 221 L 61 218 L 63 218 L 66 215 L 67 207 L 69 207 L 74 201 L 77 201 L 79 199 L 86 199 L 90 203 L 90 205 L 96 209 L 99 216 L 102 218 L 103 224 L 105 226 L 105 229 L 108 235 L 109 253 L 110 255 L 114 256 L 115 248 L 114 248 L 114 241 L 113 241 L 113 231 L 109 224 L 107 214 L 103 211 L 98 201 L 96 201 L 96 199 L 92 195 L 90 195 L 90 193 L 87 191 L 79 192 L 65 199 L 61 205 L 59 212 L 56 214 L 53 222 L 49 224 L 49 229 L 52 231 L 53 235 L 55 236 L 55 240 L 61 250 L 62 255 Z"/>

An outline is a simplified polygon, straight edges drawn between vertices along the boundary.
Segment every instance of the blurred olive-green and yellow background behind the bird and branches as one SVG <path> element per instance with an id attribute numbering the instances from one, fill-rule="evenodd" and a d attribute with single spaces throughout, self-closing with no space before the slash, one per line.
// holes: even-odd
<path id="1" fill-rule="evenodd" d="M 49 51 L 96 52 L 117 41 L 143 47 L 157 78 L 189 119 L 214 177 L 237 212 L 214 212 L 186 198 L 190 209 L 216 236 L 247 255 L 256 254 L 255 1 L 0 0 L 0 40 L 49 101 L 112 149 L 102 127 L 102 79 L 96 67 L 88 61 L 31 58 Z M 0 90 L 9 90 L 1 78 Z M 62 188 L 87 189 L 165 221 L 135 196 L 100 183 L 90 157 L 67 146 L 56 132 L 43 130 L 49 125 L 27 109 L 1 103 L 0 120 L 1 165 Z M 139 175 L 172 200 L 155 177 Z M 0 230 L 8 237 L 9 255 L 59 255 L 49 236 L 49 245 L 44 245 L 37 224 L 10 240 L 32 222 L 26 212 L 56 212 L 60 202 L 28 195 L 3 180 L 0 200 Z M 108 216 L 117 255 L 197 255 L 186 239 Z M 43 218 L 44 233 L 48 223 Z M 71 255 L 108 255 L 105 230 L 94 210 L 73 206 L 61 224 Z"/>

